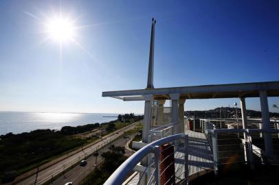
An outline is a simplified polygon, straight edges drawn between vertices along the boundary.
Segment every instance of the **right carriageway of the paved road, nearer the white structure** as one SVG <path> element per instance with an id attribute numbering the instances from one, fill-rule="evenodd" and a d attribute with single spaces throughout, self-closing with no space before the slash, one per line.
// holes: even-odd
<path id="1" fill-rule="evenodd" d="M 135 134 L 133 135 L 135 136 Z M 133 137 L 132 136 L 132 137 Z M 126 141 L 128 142 L 129 139 L 125 139 L 123 137 L 118 138 L 115 140 L 113 145 L 115 147 L 124 147 L 126 145 Z M 99 165 L 102 162 L 102 153 L 109 151 L 109 145 L 99 150 L 99 156 L 97 157 L 97 165 Z M 125 150 L 125 156 L 131 156 L 133 152 L 129 150 Z M 55 180 L 52 184 L 54 185 L 63 185 L 67 182 L 73 182 L 74 184 L 79 184 L 91 171 L 95 169 L 94 164 L 96 163 L 96 157 L 91 156 L 90 158 L 87 158 L 87 165 L 85 167 L 80 167 L 79 165 L 74 167 L 74 169 L 71 169 L 65 175 L 62 175 L 57 180 Z"/>

